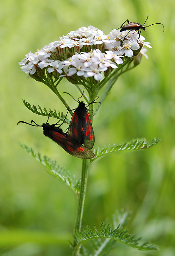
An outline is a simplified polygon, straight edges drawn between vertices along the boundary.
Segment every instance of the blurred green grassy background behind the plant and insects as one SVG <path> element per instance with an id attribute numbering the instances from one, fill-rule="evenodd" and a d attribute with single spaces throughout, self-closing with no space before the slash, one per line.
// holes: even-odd
<path id="1" fill-rule="evenodd" d="M 153 148 L 115 152 L 96 161 L 90 169 L 83 227 L 111 218 L 116 209 L 133 211 L 128 229 L 161 250 L 140 252 L 117 243 L 109 255 L 175 255 L 175 2 L 40 0 L 0 2 L 0 253 L 11 256 L 70 255 L 77 201 L 69 188 L 49 175 L 29 156 L 19 141 L 41 155 L 55 158 L 76 177 L 81 160 L 68 155 L 45 138 L 41 128 L 18 121 L 46 122 L 22 102 L 46 108 L 65 108 L 42 83 L 21 74 L 18 62 L 28 52 L 82 26 L 93 25 L 108 34 L 129 21 L 147 26 L 142 31 L 151 42 L 149 59 L 119 78 L 93 125 L 96 147 L 124 143 L 133 138 L 162 140 Z M 145 47 L 146 48 L 146 47 Z M 79 96 L 66 80 L 59 91 Z M 72 108 L 77 103 L 65 96 Z M 51 118 L 54 122 L 54 119 Z M 51 121 L 51 122 L 52 122 Z"/>

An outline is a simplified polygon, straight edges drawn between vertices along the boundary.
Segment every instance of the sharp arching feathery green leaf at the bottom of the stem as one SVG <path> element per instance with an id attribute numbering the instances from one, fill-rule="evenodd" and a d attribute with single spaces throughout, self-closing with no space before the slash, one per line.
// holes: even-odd
<path id="1" fill-rule="evenodd" d="M 148 241 L 139 243 L 141 240 L 141 237 L 135 238 L 135 235 L 131 235 L 128 233 L 128 230 L 119 229 L 119 226 L 117 228 L 112 228 L 110 224 L 106 224 L 105 222 L 102 222 L 99 231 L 96 229 L 96 226 L 91 229 L 90 227 L 87 227 L 85 230 L 78 232 L 77 230 L 74 231 L 73 236 L 74 240 L 76 242 L 76 248 L 75 251 L 78 250 L 78 248 L 86 241 L 90 241 L 93 239 L 103 239 L 102 243 L 99 243 L 97 246 L 97 249 L 93 254 L 93 256 L 99 256 L 99 255 L 106 255 L 109 250 L 111 250 L 114 246 L 114 242 L 118 241 L 120 243 L 126 244 L 128 246 L 131 246 L 133 248 L 136 248 L 138 250 L 147 251 L 147 250 L 157 250 L 157 246 L 154 244 L 149 244 Z M 111 242 L 114 241 L 114 242 Z M 85 251 L 84 251 L 85 252 Z M 86 254 L 86 253 L 85 253 Z M 75 254 L 76 255 L 76 254 Z"/>

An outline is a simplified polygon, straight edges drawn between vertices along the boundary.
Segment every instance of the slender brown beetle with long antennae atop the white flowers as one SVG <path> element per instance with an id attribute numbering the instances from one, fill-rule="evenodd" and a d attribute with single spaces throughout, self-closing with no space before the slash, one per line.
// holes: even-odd
<path id="1" fill-rule="evenodd" d="M 146 18 L 146 20 L 145 20 L 145 23 L 146 23 L 146 21 L 148 20 L 148 17 L 149 17 L 149 15 L 147 16 L 147 18 Z M 128 22 L 128 24 L 126 24 L 126 25 L 123 26 L 123 24 L 124 24 L 126 21 Z M 120 28 L 117 28 L 117 29 L 120 29 L 120 32 L 125 31 L 125 30 L 129 30 L 129 32 L 130 32 L 130 31 L 133 31 L 133 30 L 138 31 L 139 37 L 138 37 L 138 39 L 137 39 L 137 42 L 138 42 L 138 40 L 139 40 L 139 38 L 140 38 L 140 33 L 141 33 L 142 29 L 146 32 L 145 28 L 148 28 L 148 27 L 150 27 L 150 26 L 152 26 L 152 25 L 156 25 L 156 24 L 161 24 L 161 25 L 163 26 L 163 28 L 164 28 L 164 25 L 163 25 L 162 23 L 154 23 L 154 24 L 151 24 L 151 25 L 145 27 L 145 23 L 142 25 L 142 24 L 136 23 L 136 22 L 129 22 L 129 20 L 125 20 L 125 22 L 123 22 L 123 24 L 121 25 L 121 27 L 120 27 L 121 29 L 120 29 Z M 139 31 L 139 30 L 140 30 L 140 31 Z M 129 34 L 129 32 L 128 32 L 128 34 Z M 127 35 L 128 35 L 128 34 L 127 34 Z M 127 35 L 126 35 L 126 36 L 127 36 Z M 126 36 L 125 36 L 125 37 L 126 37 Z M 124 39 L 125 39 L 125 37 L 124 37 Z M 124 41 L 124 39 L 123 39 L 123 41 Z"/>

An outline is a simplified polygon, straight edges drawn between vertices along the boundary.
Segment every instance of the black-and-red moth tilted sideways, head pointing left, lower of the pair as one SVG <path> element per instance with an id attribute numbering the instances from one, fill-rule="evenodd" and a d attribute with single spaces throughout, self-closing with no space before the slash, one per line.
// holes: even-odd
<path id="1" fill-rule="evenodd" d="M 48 122 L 48 119 L 47 119 L 47 122 Z M 81 145 L 81 143 L 73 140 L 71 136 L 68 136 L 66 133 L 64 133 L 60 128 L 62 124 L 58 127 L 55 127 L 57 123 L 50 125 L 47 122 L 46 124 L 38 125 L 32 120 L 31 124 L 26 123 L 24 121 L 19 121 L 18 124 L 24 123 L 24 124 L 29 124 L 36 127 L 42 127 L 43 134 L 46 137 L 49 137 L 51 140 L 55 141 L 60 147 L 62 147 L 71 156 L 75 156 L 82 159 L 90 159 L 95 156 L 94 153 L 89 148 L 86 148 L 85 146 Z M 35 125 L 32 123 L 34 123 Z"/>

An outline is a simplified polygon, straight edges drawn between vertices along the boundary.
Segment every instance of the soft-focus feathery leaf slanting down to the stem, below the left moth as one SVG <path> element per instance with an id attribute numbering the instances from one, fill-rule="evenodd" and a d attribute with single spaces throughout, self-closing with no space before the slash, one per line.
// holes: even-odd
<path id="1" fill-rule="evenodd" d="M 41 157 L 40 153 L 34 153 L 32 148 L 27 147 L 23 143 L 20 143 L 20 146 L 37 161 L 43 164 L 50 174 L 54 175 L 56 178 L 64 182 L 69 188 L 78 193 L 80 189 L 80 181 L 71 177 L 70 173 L 66 172 L 65 169 L 57 164 L 55 160 L 50 159 L 47 156 Z"/>

